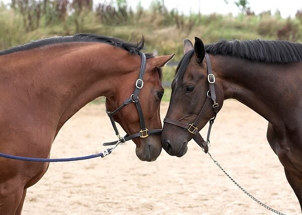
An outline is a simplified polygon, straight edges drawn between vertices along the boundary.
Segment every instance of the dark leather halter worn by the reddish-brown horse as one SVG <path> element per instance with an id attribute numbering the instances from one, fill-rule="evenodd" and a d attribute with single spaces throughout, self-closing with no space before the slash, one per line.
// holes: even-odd
<path id="1" fill-rule="evenodd" d="M 120 105 L 116 110 L 114 111 L 108 111 L 106 110 L 106 113 L 108 114 L 112 127 L 115 131 L 116 136 L 118 137 L 118 140 L 113 141 L 113 142 L 105 142 L 103 144 L 103 146 L 110 146 L 110 145 L 115 145 L 117 144 L 117 142 L 120 142 L 121 144 L 125 143 L 128 140 L 131 140 L 133 138 L 136 137 L 141 137 L 141 138 L 145 138 L 148 135 L 152 135 L 152 134 L 161 134 L 162 133 L 162 129 L 153 129 L 153 130 L 148 130 L 145 126 L 145 122 L 144 122 L 144 118 L 143 118 L 143 113 L 142 113 L 142 109 L 139 103 L 139 99 L 138 99 L 138 94 L 139 94 L 139 90 L 143 87 L 143 75 L 145 72 L 145 68 L 146 68 L 146 56 L 144 55 L 144 53 L 139 52 L 140 57 L 141 57 L 141 64 L 140 64 L 140 70 L 139 70 L 139 75 L 138 75 L 138 79 L 136 80 L 135 83 L 135 89 L 134 89 L 134 93 L 130 96 L 130 98 L 126 99 L 122 105 Z M 116 114 L 117 112 L 119 112 L 121 109 L 123 109 L 123 107 L 125 107 L 127 104 L 130 104 L 131 102 L 135 103 L 137 112 L 138 112 L 138 116 L 139 116 L 139 122 L 140 122 L 140 131 L 134 134 L 126 134 L 125 136 L 121 137 L 119 134 L 119 131 L 116 127 L 115 121 L 113 119 L 113 115 Z"/>

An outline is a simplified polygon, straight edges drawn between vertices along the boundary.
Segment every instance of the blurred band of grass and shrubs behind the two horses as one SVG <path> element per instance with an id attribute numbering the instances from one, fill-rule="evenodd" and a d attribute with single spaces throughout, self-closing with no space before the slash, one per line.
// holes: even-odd
<path id="1" fill-rule="evenodd" d="M 231 4 L 221 0 L 221 5 Z M 160 55 L 183 55 L 183 40 L 200 37 L 204 43 L 231 39 L 281 39 L 302 42 L 302 9 L 295 17 L 282 18 L 280 12 L 259 15 L 249 8 L 247 0 L 236 0 L 238 16 L 220 14 L 182 14 L 168 10 L 163 0 L 153 0 L 148 9 L 139 2 L 131 8 L 126 0 L 0 0 L 0 50 L 52 36 L 79 32 L 109 35 L 139 41 L 143 34 L 146 52 L 156 49 Z M 233 4 L 232 3 L 232 4 Z M 164 82 L 173 79 L 175 67 L 164 68 Z M 168 84 L 167 84 L 168 85 Z M 168 92 L 169 89 L 166 90 Z M 169 99 L 165 93 L 164 99 Z"/>

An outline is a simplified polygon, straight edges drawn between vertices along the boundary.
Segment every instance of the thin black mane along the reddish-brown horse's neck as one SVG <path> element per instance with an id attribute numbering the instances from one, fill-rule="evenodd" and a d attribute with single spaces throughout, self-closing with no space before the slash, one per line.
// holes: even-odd
<path id="1" fill-rule="evenodd" d="M 128 51 L 130 54 L 138 54 L 141 49 L 143 49 L 144 46 L 144 38 L 140 40 L 140 42 L 137 43 L 130 43 L 125 42 L 123 40 L 120 40 L 118 38 L 114 37 L 108 37 L 108 36 L 101 36 L 96 34 L 76 34 L 73 36 L 66 36 L 66 37 L 51 37 L 46 38 L 42 40 L 32 41 L 30 43 L 16 46 L 7 50 L 0 51 L 0 55 L 10 54 L 18 51 L 25 51 L 32 48 L 38 48 L 41 46 L 46 45 L 52 45 L 57 43 L 68 43 L 68 42 L 102 42 L 107 43 L 109 45 L 113 45 L 116 47 L 120 47 L 126 51 Z M 146 58 L 154 57 L 153 53 L 147 53 L 145 54 Z"/>

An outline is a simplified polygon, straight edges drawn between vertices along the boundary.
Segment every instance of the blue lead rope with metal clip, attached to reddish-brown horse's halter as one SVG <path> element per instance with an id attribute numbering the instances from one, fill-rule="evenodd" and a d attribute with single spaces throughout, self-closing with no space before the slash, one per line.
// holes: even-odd
<path id="1" fill-rule="evenodd" d="M 68 161 L 81 161 L 81 160 L 87 160 L 92 158 L 104 158 L 105 156 L 111 154 L 111 152 L 119 145 L 119 142 L 112 148 L 105 150 L 102 153 L 94 154 L 94 155 L 88 155 L 83 157 L 74 157 L 74 158 L 29 158 L 29 157 L 21 157 L 21 156 L 15 156 L 15 155 L 8 155 L 4 153 L 0 153 L 0 157 L 2 158 L 9 158 L 19 161 L 32 161 L 32 162 L 68 162 Z"/>

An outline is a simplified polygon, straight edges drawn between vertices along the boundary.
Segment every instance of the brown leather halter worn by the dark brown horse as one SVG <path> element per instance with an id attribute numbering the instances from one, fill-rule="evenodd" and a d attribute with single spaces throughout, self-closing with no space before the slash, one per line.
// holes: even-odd
<path id="1" fill-rule="evenodd" d="M 166 123 L 170 123 L 173 125 L 177 125 L 179 127 L 185 128 L 186 130 L 188 130 L 190 133 L 194 134 L 193 139 L 197 142 L 197 144 L 203 148 L 203 151 L 205 153 L 208 152 L 208 145 L 210 144 L 210 132 L 211 132 L 211 128 L 212 128 L 212 124 L 214 123 L 214 120 L 216 118 L 216 114 L 218 113 L 218 103 L 216 102 L 216 94 L 215 94 L 215 76 L 212 73 L 212 68 L 211 68 L 211 61 L 209 58 L 208 53 L 205 53 L 205 62 L 206 62 L 206 66 L 207 66 L 207 80 L 208 80 L 208 92 L 206 94 L 206 99 L 205 102 L 203 103 L 203 106 L 199 112 L 199 114 L 197 115 L 197 117 L 195 118 L 194 122 L 192 122 L 191 124 L 186 123 L 186 122 L 180 122 L 178 120 L 174 120 L 174 119 L 169 119 L 169 118 L 165 118 L 164 122 Z M 204 115 L 207 107 L 209 106 L 209 104 L 211 103 L 211 101 L 213 102 L 212 108 L 214 111 L 214 117 L 211 118 L 209 120 L 209 129 L 208 129 L 208 133 L 207 133 L 207 139 L 206 141 L 204 141 L 204 139 L 202 138 L 202 136 L 200 135 L 199 131 L 198 131 L 198 123 L 200 122 L 202 116 Z"/>

